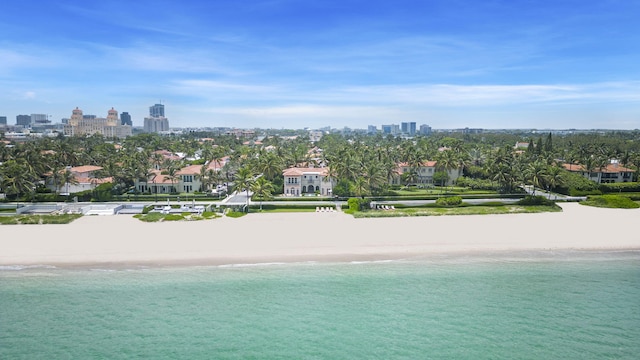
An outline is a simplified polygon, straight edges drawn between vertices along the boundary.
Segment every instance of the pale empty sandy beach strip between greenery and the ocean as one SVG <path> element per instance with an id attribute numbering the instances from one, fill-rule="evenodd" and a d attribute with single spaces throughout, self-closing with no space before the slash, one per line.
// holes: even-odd
<path id="1" fill-rule="evenodd" d="M 375 219 L 338 212 L 165 223 L 85 216 L 66 225 L 1 226 L 0 265 L 213 265 L 640 249 L 640 209 L 561 206 L 559 213 Z"/>

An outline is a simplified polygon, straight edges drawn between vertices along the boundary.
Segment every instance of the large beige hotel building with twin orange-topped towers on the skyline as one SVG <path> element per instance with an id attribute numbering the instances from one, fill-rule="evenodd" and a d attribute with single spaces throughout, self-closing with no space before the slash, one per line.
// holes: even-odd
<path id="1" fill-rule="evenodd" d="M 72 111 L 71 118 L 64 125 L 66 136 L 89 136 L 102 134 L 105 137 L 125 138 L 131 135 L 131 126 L 121 125 L 118 112 L 111 108 L 106 118 L 86 118 L 82 110 L 77 107 Z"/>

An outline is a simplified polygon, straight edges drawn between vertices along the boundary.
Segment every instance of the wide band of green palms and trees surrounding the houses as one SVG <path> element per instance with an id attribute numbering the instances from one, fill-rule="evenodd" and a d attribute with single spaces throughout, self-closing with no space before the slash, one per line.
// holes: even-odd
<path id="1" fill-rule="evenodd" d="M 141 134 L 117 144 L 102 136 L 44 138 L 13 147 L 0 142 L 0 186 L 15 197 L 35 191 L 43 180 L 62 189 L 74 181 L 64 176 L 64 170 L 80 165 L 101 166 L 102 175 L 112 177 L 120 192 L 130 189 L 138 179 L 147 179 L 153 168 L 162 169 L 177 181 L 175 168 L 187 163 L 165 163 L 164 157 L 155 153 L 157 150 L 181 152 L 199 157 L 201 164 L 213 164 L 203 167 L 199 174 L 205 188 L 230 182 L 238 177 L 240 169 L 247 168 L 252 174 L 261 174 L 277 192 L 282 191 L 284 169 L 325 167 L 328 178 L 337 181 L 336 190 L 342 195 L 357 196 L 388 191 L 400 163 L 410 168 L 403 182 L 415 182 L 417 170 L 427 160 L 437 161 L 439 171 L 462 168 L 466 176 L 490 180 L 507 192 L 524 184 L 560 186 L 558 172 L 562 171 L 563 162 L 580 164 L 585 171 L 604 168 L 611 159 L 618 159 L 623 166 L 640 168 L 640 141 L 627 133 L 553 140 L 550 135 L 529 137 L 526 140 L 531 146 L 522 153 L 513 149 L 514 141 L 522 141 L 522 136 L 504 134 L 446 133 L 414 139 L 329 134 L 315 144 L 304 135 L 287 139 L 270 136 L 263 140 L 263 146 L 249 146 L 229 135 L 210 135 L 211 140 L 200 141 L 206 137 L 202 135 Z M 227 157 L 229 160 L 222 166 L 222 159 Z"/>

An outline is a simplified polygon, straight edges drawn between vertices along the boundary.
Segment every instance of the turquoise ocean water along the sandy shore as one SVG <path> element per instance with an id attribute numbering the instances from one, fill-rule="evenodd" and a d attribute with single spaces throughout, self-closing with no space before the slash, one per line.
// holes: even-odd
<path id="1" fill-rule="evenodd" d="M 0 359 L 638 359 L 640 252 L 0 268 Z"/>

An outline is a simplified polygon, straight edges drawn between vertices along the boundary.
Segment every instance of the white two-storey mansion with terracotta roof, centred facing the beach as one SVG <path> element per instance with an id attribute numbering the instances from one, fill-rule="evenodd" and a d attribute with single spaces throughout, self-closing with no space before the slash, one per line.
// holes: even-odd
<path id="1" fill-rule="evenodd" d="M 284 177 L 285 196 L 321 195 L 333 194 L 334 179 L 329 178 L 327 168 L 300 168 L 293 167 L 282 172 Z"/>

